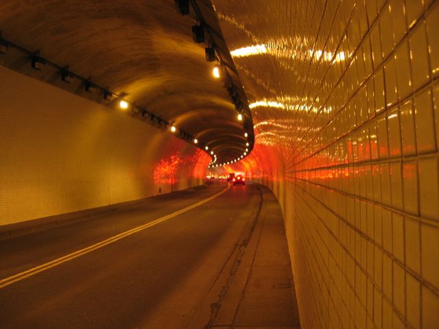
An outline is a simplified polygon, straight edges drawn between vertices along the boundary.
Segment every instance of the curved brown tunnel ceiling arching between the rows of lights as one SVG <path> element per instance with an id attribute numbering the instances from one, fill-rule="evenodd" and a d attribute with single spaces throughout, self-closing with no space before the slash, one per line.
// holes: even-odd
<path id="1" fill-rule="evenodd" d="M 191 28 L 200 21 L 206 40 L 197 44 Z M 81 84 L 61 82 L 60 71 L 53 67 L 32 69 L 23 49 L 38 50 L 41 58 L 68 66 L 79 77 L 108 86 L 137 108 L 174 124 L 187 133 L 188 141 L 197 138 L 203 149 L 209 145 L 217 162 L 241 156 L 247 142 L 252 149 L 246 93 L 208 0 L 191 1 L 185 16 L 176 10 L 174 0 L 1 1 L 0 29 L 1 38 L 14 46 L 0 56 L 4 66 L 105 103 L 102 97 L 85 93 Z M 204 48 L 209 45 L 215 45 L 230 76 L 228 86 L 232 82 L 239 95 L 243 121 L 237 120 L 224 81 L 212 75 L 217 62 L 205 59 Z M 108 106 L 117 107 L 117 102 Z"/>

